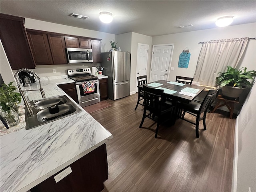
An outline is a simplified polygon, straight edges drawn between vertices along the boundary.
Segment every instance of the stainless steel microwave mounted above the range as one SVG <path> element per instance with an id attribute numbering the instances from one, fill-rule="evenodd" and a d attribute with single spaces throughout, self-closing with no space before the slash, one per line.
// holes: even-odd
<path id="1" fill-rule="evenodd" d="M 69 63 L 92 63 L 92 50 L 82 48 L 67 48 Z"/>

